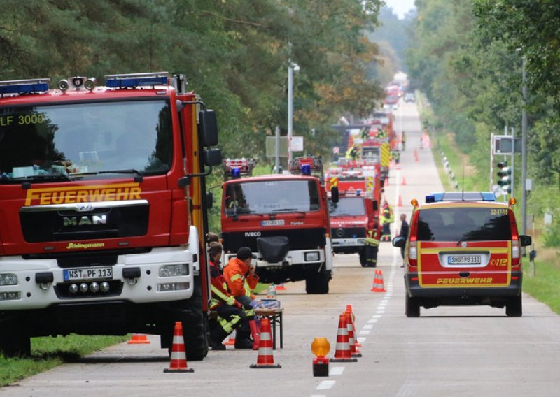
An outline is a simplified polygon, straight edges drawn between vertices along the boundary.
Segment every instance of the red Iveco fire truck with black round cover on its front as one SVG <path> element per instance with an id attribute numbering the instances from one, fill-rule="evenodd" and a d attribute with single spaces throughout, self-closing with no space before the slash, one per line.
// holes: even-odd
<path id="1" fill-rule="evenodd" d="M 321 159 L 294 159 L 291 175 L 252 176 L 250 159 L 227 159 L 224 165 L 225 262 L 239 247 L 250 247 L 260 282 L 305 280 L 308 294 L 327 294 L 332 277 L 327 195 L 320 178 L 311 176 L 322 174 Z"/>

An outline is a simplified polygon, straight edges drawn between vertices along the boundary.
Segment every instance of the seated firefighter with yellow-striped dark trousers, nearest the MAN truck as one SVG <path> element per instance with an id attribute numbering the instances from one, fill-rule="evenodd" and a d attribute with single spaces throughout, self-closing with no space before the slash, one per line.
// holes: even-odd
<path id="1" fill-rule="evenodd" d="M 212 350 L 225 350 L 222 341 L 237 330 L 235 337 L 236 349 L 251 349 L 253 341 L 249 340 L 248 318 L 241 303 L 237 302 L 228 290 L 228 283 L 220 269 L 222 245 L 212 242 L 208 250 L 210 257 L 210 277 L 212 300 L 210 310 L 218 313 L 216 322 L 210 322 L 209 345 Z"/>

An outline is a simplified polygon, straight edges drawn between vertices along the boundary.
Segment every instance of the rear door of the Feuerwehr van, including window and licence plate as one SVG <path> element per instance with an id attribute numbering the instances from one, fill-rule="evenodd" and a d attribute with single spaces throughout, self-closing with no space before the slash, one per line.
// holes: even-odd
<path id="1" fill-rule="evenodd" d="M 477 203 L 425 208 L 418 218 L 419 284 L 427 288 L 507 287 L 510 209 Z"/>

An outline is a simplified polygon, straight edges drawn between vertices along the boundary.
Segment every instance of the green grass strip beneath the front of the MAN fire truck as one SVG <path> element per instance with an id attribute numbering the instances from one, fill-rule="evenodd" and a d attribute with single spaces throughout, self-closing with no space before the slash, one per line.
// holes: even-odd
<path id="1" fill-rule="evenodd" d="M 127 336 L 68 335 L 57 338 L 31 338 L 31 357 L 6 358 L 0 355 L 0 387 L 63 363 L 76 361 L 105 347 L 125 342 Z"/>

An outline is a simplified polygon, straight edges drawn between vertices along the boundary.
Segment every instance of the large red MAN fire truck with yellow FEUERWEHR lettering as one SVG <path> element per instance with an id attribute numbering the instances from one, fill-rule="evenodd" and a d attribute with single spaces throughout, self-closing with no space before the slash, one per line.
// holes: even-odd
<path id="1" fill-rule="evenodd" d="M 188 359 L 203 359 L 214 111 L 167 72 L 0 94 L 1 352 L 69 333 L 155 334 L 170 349 L 181 321 Z"/>

